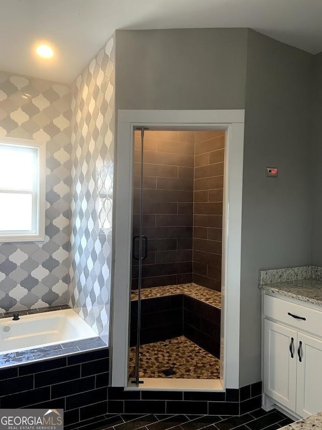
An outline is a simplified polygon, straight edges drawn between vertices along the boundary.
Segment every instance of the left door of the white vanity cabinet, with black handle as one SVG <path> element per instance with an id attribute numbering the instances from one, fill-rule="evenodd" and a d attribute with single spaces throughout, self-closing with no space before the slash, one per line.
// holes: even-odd
<path id="1" fill-rule="evenodd" d="M 264 393 L 291 410 L 296 399 L 296 345 L 295 330 L 265 319 Z"/>

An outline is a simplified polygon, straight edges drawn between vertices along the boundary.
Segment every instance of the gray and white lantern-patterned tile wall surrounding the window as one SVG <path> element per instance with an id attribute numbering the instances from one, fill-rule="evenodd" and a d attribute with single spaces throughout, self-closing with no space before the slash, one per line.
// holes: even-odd
<path id="1" fill-rule="evenodd" d="M 47 168 L 45 241 L 0 243 L 0 312 L 68 303 L 68 86 L 0 72 L 1 137 L 46 142 Z"/>

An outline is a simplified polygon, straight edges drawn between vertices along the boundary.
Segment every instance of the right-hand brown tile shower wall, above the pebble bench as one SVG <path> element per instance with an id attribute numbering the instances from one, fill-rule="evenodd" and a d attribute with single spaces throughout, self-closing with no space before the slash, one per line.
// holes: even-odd
<path id="1" fill-rule="evenodd" d="M 220 291 L 223 131 L 195 133 L 193 281 Z"/>

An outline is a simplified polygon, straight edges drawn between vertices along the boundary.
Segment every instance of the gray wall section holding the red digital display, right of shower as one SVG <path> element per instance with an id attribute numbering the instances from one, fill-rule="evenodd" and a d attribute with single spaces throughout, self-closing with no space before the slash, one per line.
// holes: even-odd
<path id="1" fill-rule="evenodd" d="M 310 264 L 313 56 L 249 30 L 240 294 L 240 386 L 260 379 L 258 270 Z M 276 179 L 265 166 L 277 166 Z"/>

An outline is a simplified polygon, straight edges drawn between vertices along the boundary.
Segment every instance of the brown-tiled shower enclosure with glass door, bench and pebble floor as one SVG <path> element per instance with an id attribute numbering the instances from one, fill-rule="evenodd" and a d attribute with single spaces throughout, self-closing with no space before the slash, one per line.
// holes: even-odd
<path id="1" fill-rule="evenodd" d="M 129 378 L 219 379 L 225 131 L 134 131 Z"/>

